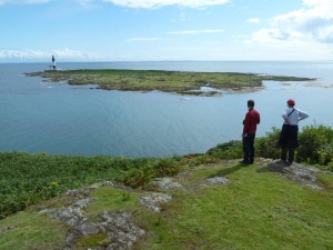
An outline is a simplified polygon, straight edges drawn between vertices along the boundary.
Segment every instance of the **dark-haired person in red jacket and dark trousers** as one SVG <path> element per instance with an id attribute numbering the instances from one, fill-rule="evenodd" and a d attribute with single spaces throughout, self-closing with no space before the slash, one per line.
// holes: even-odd
<path id="1" fill-rule="evenodd" d="M 254 101 L 248 101 L 248 113 L 243 121 L 243 152 L 244 159 L 241 161 L 243 164 L 253 164 L 254 162 L 254 138 L 256 124 L 260 123 L 260 113 L 254 109 Z"/>

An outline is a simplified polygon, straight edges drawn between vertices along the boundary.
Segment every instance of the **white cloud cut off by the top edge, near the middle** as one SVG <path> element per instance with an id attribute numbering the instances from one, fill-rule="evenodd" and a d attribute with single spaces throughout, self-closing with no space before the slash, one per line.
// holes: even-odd
<path id="1" fill-rule="evenodd" d="M 111 2 L 115 6 L 122 6 L 127 8 L 142 8 L 152 9 L 165 6 L 183 6 L 190 8 L 203 8 L 210 6 L 225 4 L 230 0 L 104 0 L 104 2 Z"/>

